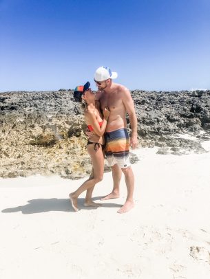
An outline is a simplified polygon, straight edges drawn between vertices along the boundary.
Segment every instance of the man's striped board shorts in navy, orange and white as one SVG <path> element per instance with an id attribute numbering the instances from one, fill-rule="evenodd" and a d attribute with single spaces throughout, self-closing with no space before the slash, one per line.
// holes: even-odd
<path id="1" fill-rule="evenodd" d="M 129 167 L 129 135 L 127 129 L 105 133 L 105 155 L 109 166 L 118 164 L 120 168 Z"/>

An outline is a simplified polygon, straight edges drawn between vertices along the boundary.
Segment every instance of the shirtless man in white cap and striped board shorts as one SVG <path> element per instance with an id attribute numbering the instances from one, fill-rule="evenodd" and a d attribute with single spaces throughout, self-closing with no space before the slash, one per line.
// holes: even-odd
<path id="1" fill-rule="evenodd" d="M 105 132 L 105 154 L 109 166 L 112 167 L 114 186 L 112 192 L 103 200 L 119 197 L 120 179 L 123 172 L 127 186 L 127 199 L 118 213 L 125 213 L 134 207 L 134 173 L 129 162 L 129 146 L 136 148 L 138 144 L 137 119 L 129 90 L 123 85 L 112 82 L 117 76 L 118 74 L 112 72 L 109 67 L 99 67 L 96 69 L 94 81 L 98 87 L 96 99 L 99 100 L 101 109 L 108 107 L 110 111 Z M 132 128 L 130 140 L 126 129 L 126 113 L 129 115 Z"/>

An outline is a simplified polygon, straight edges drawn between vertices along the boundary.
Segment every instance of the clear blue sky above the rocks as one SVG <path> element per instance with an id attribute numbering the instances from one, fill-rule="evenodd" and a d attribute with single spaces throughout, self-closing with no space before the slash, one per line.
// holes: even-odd
<path id="1" fill-rule="evenodd" d="M 0 91 L 210 89 L 210 0 L 0 0 Z"/>

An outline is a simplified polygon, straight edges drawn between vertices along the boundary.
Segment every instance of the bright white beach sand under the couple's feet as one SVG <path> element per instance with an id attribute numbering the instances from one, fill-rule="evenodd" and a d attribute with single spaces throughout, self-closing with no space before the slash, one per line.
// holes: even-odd
<path id="1" fill-rule="evenodd" d="M 209 148 L 209 142 L 204 144 Z M 209 148 L 210 150 L 210 148 Z M 73 212 L 68 200 L 84 179 L 0 179 L 0 278 L 210 278 L 210 153 L 156 155 L 136 150 L 136 207 Z M 112 189 L 106 173 L 95 201 Z"/>

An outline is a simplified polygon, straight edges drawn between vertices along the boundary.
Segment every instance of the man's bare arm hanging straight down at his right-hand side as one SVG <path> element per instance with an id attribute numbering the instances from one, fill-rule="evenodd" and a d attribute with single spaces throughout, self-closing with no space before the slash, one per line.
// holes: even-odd
<path id="1" fill-rule="evenodd" d="M 136 148 L 138 144 L 138 139 L 137 139 L 137 118 L 136 118 L 136 111 L 134 107 L 134 101 L 132 99 L 131 93 L 129 89 L 123 88 L 123 104 L 125 105 L 125 108 L 127 110 L 127 113 L 129 115 L 129 121 L 132 127 L 132 136 L 130 139 L 130 146 L 132 148 Z"/>

